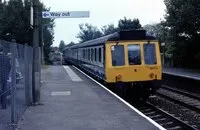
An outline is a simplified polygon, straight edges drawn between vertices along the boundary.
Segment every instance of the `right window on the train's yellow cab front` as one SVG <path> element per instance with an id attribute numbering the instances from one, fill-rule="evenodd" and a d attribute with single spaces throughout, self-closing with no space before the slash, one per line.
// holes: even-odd
<path id="1" fill-rule="evenodd" d="M 156 48 L 155 44 L 144 44 L 144 60 L 145 64 L 156 64 Z"/>

